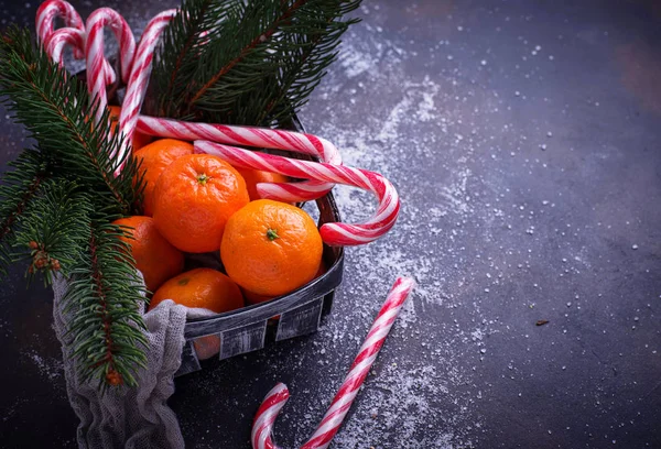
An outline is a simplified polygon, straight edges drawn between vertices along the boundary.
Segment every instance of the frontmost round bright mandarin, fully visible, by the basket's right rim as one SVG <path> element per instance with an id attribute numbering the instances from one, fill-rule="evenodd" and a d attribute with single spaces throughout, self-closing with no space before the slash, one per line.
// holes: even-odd
<path id="1" fill-rule="evenodd" d="M 225 228 L 220 259 L 229 277 L 262 296 L 284 295 L 312 281 L 323 243 L 314 220 L 284 202 L 258 199 Z"/>

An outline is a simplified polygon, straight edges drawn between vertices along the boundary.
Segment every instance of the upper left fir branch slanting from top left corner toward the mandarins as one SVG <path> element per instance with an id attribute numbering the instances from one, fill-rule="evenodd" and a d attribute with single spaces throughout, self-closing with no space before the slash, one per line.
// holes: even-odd
<path id="1" fill-rule="evenodd" d="M 90 124 L 97 107 L 88 106 L 85 87 L 35 48 L 26 30 L 12 28 L 0 41 L 0 95 L 7 96 L 4 103 L 56 169 L 75 175 L 82 187 L 97 193 L 97 210 L 131 211 L 141 187 L 133 186 L 137 164 L 129 160 L 120 176 L 112 175 L 123 162 L 112 157 L 123 136 L 112 135 L 109 125 Z M 108 111 L 101 123 L 109 123 Z"/>

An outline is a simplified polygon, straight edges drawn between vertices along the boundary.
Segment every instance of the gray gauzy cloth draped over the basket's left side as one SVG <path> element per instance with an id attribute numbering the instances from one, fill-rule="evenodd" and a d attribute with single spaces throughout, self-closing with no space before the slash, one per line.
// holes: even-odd
<path id="1" fill-rule="evenodd" d="M 137 373 L 138 387 L 109 388 L 104 395 L 94 383 L 83 382 L 71 355 L 71 335 L 66 335 L 68 316 L 62 299 L 67 283 L 63 277 L 53 284 L 55 331 L 62 343 L 66 387 L 80 425 L 82 449 L 183 448 L 184 439 L 167 398 L 174 393 L 174 373 L 181 364 L 184 346 L 184 306 L 164 300 L 144 315 L 149 340 L 148 368 Z"/>

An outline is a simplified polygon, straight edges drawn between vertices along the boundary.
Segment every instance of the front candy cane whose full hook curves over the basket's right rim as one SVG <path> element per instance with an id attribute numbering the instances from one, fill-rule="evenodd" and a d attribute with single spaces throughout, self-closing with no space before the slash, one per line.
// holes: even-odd
<path id="1" fill-rule="evenodd" d="M 329 245 L 356 245 L 377 240 L 394 226 L 400 201 L 392 184 L 378 173 L 344 165 L 290 160 L 228 146 L 208 141 L 195 141 L 197 152 L 217 155 L 241 168 L 266 169 L 285 176 L 346 184 L 372 191 L 379 199 L 376 215 L 364 223 L 326 223 L 319 232 Z"/>

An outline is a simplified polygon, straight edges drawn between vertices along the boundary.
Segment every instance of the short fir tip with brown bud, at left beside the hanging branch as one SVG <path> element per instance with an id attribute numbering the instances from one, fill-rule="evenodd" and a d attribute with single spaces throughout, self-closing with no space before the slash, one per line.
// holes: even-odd
<path id="1" fill-rule="evenodd" d="M 40 195 L 30 202 L 15 231 L 17 252 L 12 259 L 31 259 L 30 280 L 35 272 L 44 274 L 46 284 L 52 284 L 55 272 L 68 276 L 86 249 L 91 215 L 89 196 L 75 183 L 42 184 Z"/>

